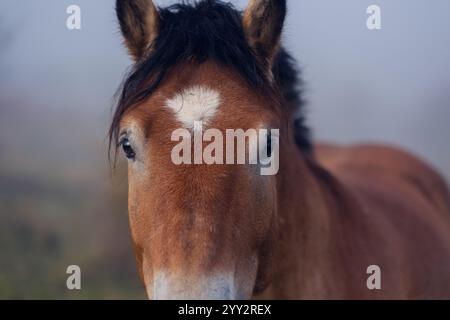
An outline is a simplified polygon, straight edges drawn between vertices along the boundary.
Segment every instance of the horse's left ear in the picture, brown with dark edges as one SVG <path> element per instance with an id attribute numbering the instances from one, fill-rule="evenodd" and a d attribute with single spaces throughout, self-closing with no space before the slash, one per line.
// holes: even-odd
<path id="1" fill-rule="evenodd" d="M 152 0 L 117 0 L 116 13 L 128 51 L 138 61 L 158 36 L 158 10 Z"/>

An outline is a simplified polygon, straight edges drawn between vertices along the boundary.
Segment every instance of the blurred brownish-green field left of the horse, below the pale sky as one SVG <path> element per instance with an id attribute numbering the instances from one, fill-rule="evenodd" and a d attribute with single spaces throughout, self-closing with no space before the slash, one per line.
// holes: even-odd
<path id="1" fill-rule="evenodd" d="M 0 108 L 0 299 L 145 298 L 126 174 L 122 168 L 112 175 L 103 137 L 94 132 L 68 142 L 70 125 L 65 134 L 52 126 L 29 132 L 29 109 L 12 111 L 1 100 Z M 51 145 L 45 134 L 55 135 Z M 80 291 L 66 288 L 72 264 L 81 267 Z"/>

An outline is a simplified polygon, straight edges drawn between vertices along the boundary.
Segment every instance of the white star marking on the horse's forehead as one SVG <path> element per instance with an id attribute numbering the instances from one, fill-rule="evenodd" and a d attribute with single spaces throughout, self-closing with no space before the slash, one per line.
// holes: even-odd
<path id="1" fill-rule="evenodd" d="M 193 128 L 195 121 L 210 121 L 221 103 L 220 94 L 205 86 L 194 86 L 177 93 L 166 102 L 185 128 Z"/>

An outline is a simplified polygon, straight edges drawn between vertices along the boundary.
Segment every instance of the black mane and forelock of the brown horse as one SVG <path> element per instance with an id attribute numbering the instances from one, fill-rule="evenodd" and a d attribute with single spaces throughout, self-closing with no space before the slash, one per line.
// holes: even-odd
<path id="1" fill-rule="evenodd" d="M 238 72 L 250 86 L 267 94 L 274 90 L 264 66 L 249 47 L 242 26 L 241 13 L 233 5 L 218 0 L 194 4 L 176 4 L 159 10 L 160 30 L 151 54 L 138 61 L 123 82 L 110 127 L 110 142 L 117 142 L 124 113 L 148 98 L 166 72 L 180 62 L 214 61 Z M 296 116 L 295 138 L 301 150 L 312 145 L 304 124 L 299 72 L 294 59 L 281 49 L 274 61 L 275 89 L 281 91 L 289 112 Z"/>

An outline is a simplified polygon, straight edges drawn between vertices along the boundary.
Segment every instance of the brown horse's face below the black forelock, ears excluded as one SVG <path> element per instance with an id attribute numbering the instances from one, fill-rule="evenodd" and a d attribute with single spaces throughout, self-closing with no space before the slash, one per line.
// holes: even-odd
<path id="1" fill-rule="evenodd" d="M 238 77 L 214 64 L 177 71 L 121 123 L 120 141 L 129 158 L 130 223 L 148 296 L 250 298 L 257 277 L 259 284 L 265 277 L 276 214 L 276 175 L 262 175 L 262 165 L 250 163 L 250 153 L 255 146 L 258 155 L 267 152 L 262 140 L 267 136 L 258 130 L 279 128 L 277 117 Z M 194 126 L 197 120 L 201 132 Z M 217 142 L 207 137 L 211 129 L 216 140 L 222 134 L 213 154 L 223 156 L 207 164 L 207 150 Z M 244 164 L 237 164 L 242 150 L 234 139 L 235 161 L 227 163 L 231 140 L 226 132 L 238 129 L 253 131 L 258 139 L 244 140 Z M 186 136 L 174 141 L 177 132 Z M 196 135 L 202 137 L 203 158 L 197 163 Z M 277 149 L 274 140 L 271 148 Z M 177 151 L 180 145 L 186 148 Z M 174 161 L 190 152 L 185 162 Z"/>

